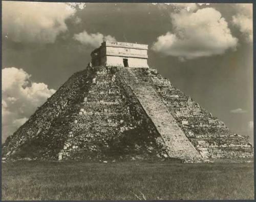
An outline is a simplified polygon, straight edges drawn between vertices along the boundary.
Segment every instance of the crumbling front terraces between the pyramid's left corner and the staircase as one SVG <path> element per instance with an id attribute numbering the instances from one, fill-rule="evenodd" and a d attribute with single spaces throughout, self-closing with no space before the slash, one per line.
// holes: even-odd
<path id="1" fill-rule="evenodd" d="M 60 150 L 62 158 L 108 158 L 108 156 L 156 153 L 157 133 L 148 134 L 150 124 L 131 106 L 135 97 L 127 96 L 122 80 L 111 68 L 97 68 L 86 94 L 73 106 L 67 139 Z M 128 101 L 129 100 L 129 101 Z M 136 110 L 135 108 L 136 107 Z M 144 118 L 142 118 L 144 117 Z"/>

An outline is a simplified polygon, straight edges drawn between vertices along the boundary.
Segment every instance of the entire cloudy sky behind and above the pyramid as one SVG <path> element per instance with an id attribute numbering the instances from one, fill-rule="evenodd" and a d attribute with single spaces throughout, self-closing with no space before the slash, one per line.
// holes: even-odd
<path id="1" fill-rule="evenodd" d="M 252 4 L 2 2 L 2 140 L 103 39 L 148 44 L 148 64 L 253 138 Z"/>

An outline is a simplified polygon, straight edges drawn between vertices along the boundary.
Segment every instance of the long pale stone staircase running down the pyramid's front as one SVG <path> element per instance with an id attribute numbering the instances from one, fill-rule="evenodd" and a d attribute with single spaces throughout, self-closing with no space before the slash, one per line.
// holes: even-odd
<path id="1" fill-rule="evenodd" d="M 187 139 L 153 86 L 145 80 L 146 77 L 132 68 L 122 68 L 120 71 L 124 82 L 131 87 L 146 114 L 161 134 L 169 157 L 200 162 L 202 156 Z"/>

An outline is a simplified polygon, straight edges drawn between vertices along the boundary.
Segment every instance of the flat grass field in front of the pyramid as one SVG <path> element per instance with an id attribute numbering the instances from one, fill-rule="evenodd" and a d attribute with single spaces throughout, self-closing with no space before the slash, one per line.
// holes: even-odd
<path id="1" fill-rule="evenodd" d="M 253 187 L 253 162 L 2 164 L 2 200 L 253 199 Z"/>

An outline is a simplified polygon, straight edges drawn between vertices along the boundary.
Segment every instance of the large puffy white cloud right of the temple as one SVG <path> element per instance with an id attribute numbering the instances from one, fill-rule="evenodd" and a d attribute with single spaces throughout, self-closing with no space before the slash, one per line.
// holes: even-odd
<path id="1" fill-rule="evenodd" d="M 214 8 L 194 13 L 181 10 L 171 17 L 173 31 L 157 38 L 152 47 L 155 52 L 194 59 L 236 50 L 238 39 L 231 35 L 225 18 Z"/>

